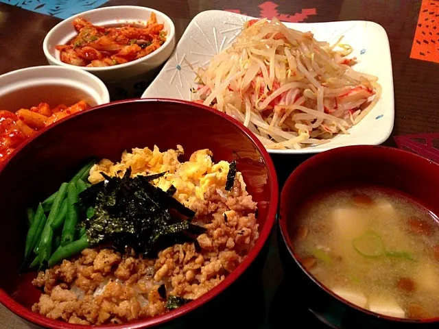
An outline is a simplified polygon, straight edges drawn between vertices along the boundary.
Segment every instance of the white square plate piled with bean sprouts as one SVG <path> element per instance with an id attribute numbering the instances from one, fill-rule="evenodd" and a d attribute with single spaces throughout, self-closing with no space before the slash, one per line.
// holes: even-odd
<path id="1" fill-rule="evenodd" d="M 143 97 L 225 112 L 270 153 L 378 145 L 394 122 L 388 36 L 367 21 L 282 23 L 206 11 Z"/>

